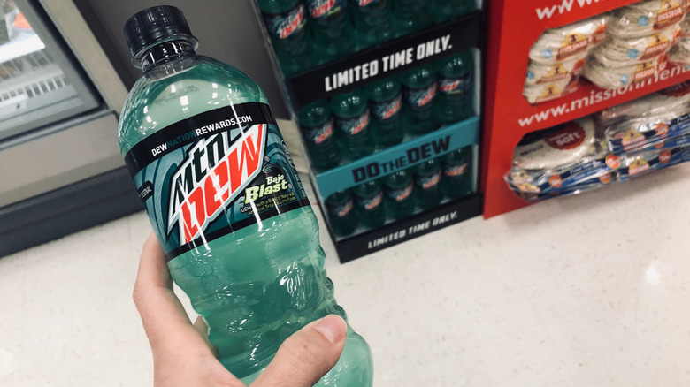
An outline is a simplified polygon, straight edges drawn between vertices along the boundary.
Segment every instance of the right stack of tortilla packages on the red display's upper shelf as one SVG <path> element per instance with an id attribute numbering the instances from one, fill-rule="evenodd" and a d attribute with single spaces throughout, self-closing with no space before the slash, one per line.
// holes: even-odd
<path id="1" fill-rule="evenodd" d="M 598 87 L 617 88 L 663 72 L 685 13 L 685 0 L 644 0 L 611 11 L 606 39 L 592 51 L 583 75 Z"/>

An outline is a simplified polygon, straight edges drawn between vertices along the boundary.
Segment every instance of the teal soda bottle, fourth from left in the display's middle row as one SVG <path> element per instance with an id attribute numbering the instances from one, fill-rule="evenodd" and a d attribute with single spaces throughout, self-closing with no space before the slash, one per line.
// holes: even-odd
<path id="1" fill-rule="evenodd" d="M 422 65 L 400 77 L 403 84 L 403 101 L 407 108 L 404 115 L 407 132 L 412 136 L 433 132 L 439 127 L 433 117 L 436 97 L 436 72 L 433 64 Z"/>

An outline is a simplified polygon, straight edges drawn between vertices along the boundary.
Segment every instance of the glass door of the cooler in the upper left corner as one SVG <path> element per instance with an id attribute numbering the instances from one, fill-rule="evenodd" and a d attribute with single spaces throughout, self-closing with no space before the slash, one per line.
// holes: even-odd
<path id="1" fill-rule="evenodd" d="M 98 107 L 41 7 L 0 1 L 0 141 Z"/>

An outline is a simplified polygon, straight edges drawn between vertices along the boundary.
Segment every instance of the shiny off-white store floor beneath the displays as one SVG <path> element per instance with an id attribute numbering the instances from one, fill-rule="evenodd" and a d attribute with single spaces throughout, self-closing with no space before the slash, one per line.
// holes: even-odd
<path id="1" fill-rule="evenodd" d="M 690 385 L 690 165 L 326 268 L 377 387 Z M 0 386 L 151 385 L 143 214 L 0 259 Z"/>

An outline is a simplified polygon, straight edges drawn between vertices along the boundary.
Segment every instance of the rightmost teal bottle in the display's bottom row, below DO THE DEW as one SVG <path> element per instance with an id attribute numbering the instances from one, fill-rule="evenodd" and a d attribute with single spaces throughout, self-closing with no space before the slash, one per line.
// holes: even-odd
<path id="1" fill-rule="evenodd" d="M 441 157 L 441 193 L 452 199 L 472 192 L 472 146 Z"/>

